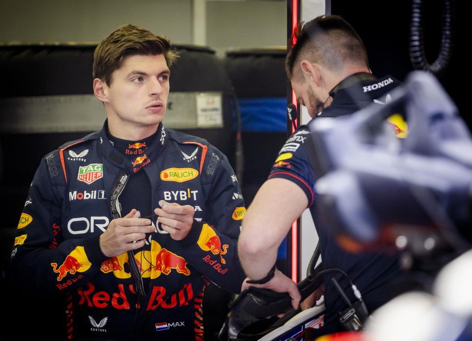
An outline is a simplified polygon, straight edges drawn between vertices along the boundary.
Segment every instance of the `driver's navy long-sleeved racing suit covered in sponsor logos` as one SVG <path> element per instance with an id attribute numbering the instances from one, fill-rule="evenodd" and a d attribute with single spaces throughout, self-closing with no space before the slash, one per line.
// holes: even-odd
<path id="1" fill-rule="evenodd" d="M 130 162 L 113 145 L 105 122 L 102 131 L 46 155 L 34 175 L 10 276 L 24 292 L 64 297 L 70 339 L 203 340 L 208 280 L 240 290 L 244 273 L 236 240 L 245 208 L 225 155 L 162 124 L 155 135 L 148 144 L 129 144 Z M 150 218 L 155 232 L 134 251 L 146 289 L 141 300 L 128 254 L 107 258 L 99 246 L 112 220 L 112 187 L 123 172 L 147 177 L 152 210 L 159 200 L 195 209 L 180 241 Z"/>

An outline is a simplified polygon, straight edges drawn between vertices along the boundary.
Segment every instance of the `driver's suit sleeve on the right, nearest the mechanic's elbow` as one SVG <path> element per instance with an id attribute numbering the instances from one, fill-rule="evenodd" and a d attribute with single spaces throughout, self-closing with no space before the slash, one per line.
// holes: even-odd
<path id="1" fill-rule="evenodd" d="M 237 238 L 246 213 L 244 200 L 226 156 L 209 150 L 202 171 L 207 188 L 207 221 L 194 221 L 182 241 L 186 259 L 209 280 L 239 293 L 245 275 L 237 256 Z"/>

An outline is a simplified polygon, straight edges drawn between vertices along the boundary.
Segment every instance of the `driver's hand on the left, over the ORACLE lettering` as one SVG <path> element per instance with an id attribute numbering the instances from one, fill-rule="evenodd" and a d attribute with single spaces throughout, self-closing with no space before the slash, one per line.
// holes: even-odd
<path id="1" fill-rule="evenodd" d="M 105 256 L 118 256 L 139 249 L 146 242 L 146 233 L 154 232 L 149 219 L 133 218 L 136 212 L 133 208 L 124 218 L 113 219 L 100 235 L 100 250 Z M 137 242 L 133 243 L 135 240 Z"/>

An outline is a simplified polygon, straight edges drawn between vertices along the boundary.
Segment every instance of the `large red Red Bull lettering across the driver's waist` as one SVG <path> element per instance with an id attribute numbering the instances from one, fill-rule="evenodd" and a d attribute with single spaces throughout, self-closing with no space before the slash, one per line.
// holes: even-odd
<path id="1" fill-rule="evenodd" d="M 132 284 L 118 284 L 118 292 L 108 293 L 106 291 L 96 291 L 95 285 L 89 282 L 80 287 L 77 292 L 80 296 L 79 305 L 102 309 L 111 306 L 117 310 L 129 310 L 128 295 L 136 295 Z M 164 286 L 155 285 L 152 287 L 146 310 L 150 311 L 158 308 L 173 309 L 175 307 L 188 306 L 192 299 L 192 283 L 183 284 L 183 287 L 174 293 L 168 292 Z"/>

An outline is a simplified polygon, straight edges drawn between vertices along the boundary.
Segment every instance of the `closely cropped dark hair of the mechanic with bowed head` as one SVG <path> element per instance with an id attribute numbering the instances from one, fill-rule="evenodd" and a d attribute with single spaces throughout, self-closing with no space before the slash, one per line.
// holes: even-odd
<path id="1" fill-rule="evenodd" d="M 369 68 L 364 43 L 354 28 L 338 15 L 319 16 L 300 23 L 295 30 L 295 45 L 285 59 L 285 70 L 291 79 L 294 67 L 303 59 L 320 63 L 330 70 L 351 63 Z"/>

